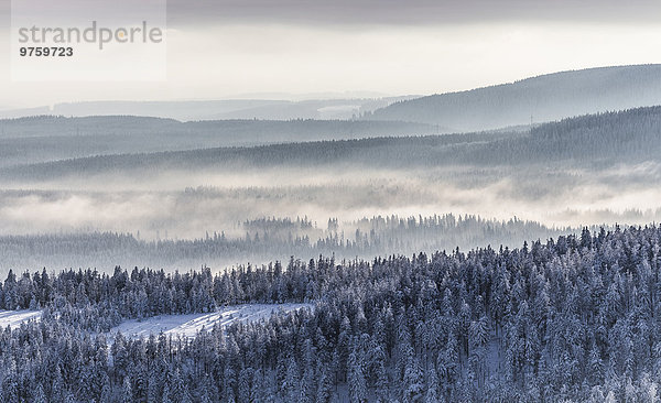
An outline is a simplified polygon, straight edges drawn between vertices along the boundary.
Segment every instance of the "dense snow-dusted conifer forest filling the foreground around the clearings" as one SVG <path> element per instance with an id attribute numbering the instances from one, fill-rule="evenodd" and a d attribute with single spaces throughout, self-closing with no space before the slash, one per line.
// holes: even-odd
<path id="1" fill-rule="evenodd" d="M 618 227 L 513 250 L 292 260 L 217 275 L 11 274 L 6 304 L 50 308 L 40 324 L 0 335 L 2 397 L 655 402 L 660 251 L 661 228 Z M 203 294 L 205 303 L 192 303 Z M 108 348 L 104 335 L 72 326 L 82 306 L 133 316 L 302 299 L 315 301 L 314 311 L 192 340 L 117 335 Z"/>

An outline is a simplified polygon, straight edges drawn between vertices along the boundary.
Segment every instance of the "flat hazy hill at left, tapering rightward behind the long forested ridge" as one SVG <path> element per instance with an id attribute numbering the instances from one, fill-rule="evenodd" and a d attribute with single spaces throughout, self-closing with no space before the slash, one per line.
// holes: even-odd
<path id="1" fill-rule="evenodd" d="M 151 153 L 383 135 L 435 134 L 420 123 L 340 120 L 180 122 L 144 117 L 0 120 L 0 167 L 104 154 Z"/>

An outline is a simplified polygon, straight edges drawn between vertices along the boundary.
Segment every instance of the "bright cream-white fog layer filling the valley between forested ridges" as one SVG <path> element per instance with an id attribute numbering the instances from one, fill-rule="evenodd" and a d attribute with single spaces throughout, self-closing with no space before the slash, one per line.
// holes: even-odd
<path id="1" fill-rule="evenodd" d="M 108 174 L 3 185 L 0 235 L 138 231 L 145 239 L 232 233 L 259 217 L 329 217 L 453 213 L 535 220 L 549 227 L 659 220 L 661 165 L 602 171 L 531 166 L 387 171 L 346 166 L 242 172 Z"/>

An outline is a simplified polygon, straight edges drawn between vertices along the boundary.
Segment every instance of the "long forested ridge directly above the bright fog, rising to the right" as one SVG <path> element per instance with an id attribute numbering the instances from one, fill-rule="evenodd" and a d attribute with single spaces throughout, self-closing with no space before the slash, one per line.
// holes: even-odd
<path id="1" fill-rule="evenodd" d="M 317 121 L 310 121 L 316 124 Z M 387 122 L 383 122 L 387 123 Z M 196 124 L 213 124 L 199 122 Z M 52 178 L 104 172 L 270 166 L 433 167 L 577 164 L 661 160 L 661 107 L 589 115 L 540 124 L 529 132 L 299 142 L 150 154 L 94 156 L 0 171 L 4 177 Z"/>

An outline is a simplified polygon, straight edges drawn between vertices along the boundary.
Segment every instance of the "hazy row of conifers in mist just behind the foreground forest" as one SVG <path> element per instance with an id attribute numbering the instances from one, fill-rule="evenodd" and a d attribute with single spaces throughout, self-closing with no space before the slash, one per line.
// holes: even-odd
<path id="1" fill-rule="evenodd" d="M 202 192 L 202 190 L 201 190 Z M 192 196 L 193 197 L 193 196 Z M 48 264 L 50 269 L 97 268 L 111 270 L 124 262 L 141 262 L 154 269 L 212 268 L 239 261 L 267 262 L 290 255 L 319 254 L 369 258 L 409 254 L 475 244 L 518 246 L 525 239 L 548 238 L 563 229 L 534 221 L 488 220 L 478 216 L 399 217 L 376 216 L 354 222 L 328 220 L 319 228 L 308 218 L 260 218 L 235 228 L 206 233 L 192 240 L 143 240 L 139 235 L 91 232 L 0 237 L 0 273 Z M 76 265 L 77 264 L 77 265 Z"/>

